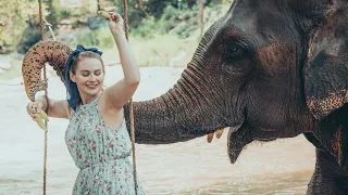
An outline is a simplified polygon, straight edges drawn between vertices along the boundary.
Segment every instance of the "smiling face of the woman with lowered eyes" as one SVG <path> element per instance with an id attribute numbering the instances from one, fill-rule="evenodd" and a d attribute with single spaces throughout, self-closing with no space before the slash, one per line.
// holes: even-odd
<path id="1" fill-rule="evenodd" d="M 76 82 L 82 99 L 94 96 L 102 90 L 104 73 L 100 60 L 94 57 L 83 58 L 75 75 L 71 73 L 72 81 Z"/>

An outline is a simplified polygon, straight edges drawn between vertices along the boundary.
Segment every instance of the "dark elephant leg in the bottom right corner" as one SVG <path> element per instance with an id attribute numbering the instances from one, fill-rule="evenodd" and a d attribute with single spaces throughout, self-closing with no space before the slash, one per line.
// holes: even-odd
<path id="1" fill-rule="evenodd" d="M 307 195 L 348 194 L 347 171 L 327 152 L 316 148 L 315 170 L 308 184 Z"/>

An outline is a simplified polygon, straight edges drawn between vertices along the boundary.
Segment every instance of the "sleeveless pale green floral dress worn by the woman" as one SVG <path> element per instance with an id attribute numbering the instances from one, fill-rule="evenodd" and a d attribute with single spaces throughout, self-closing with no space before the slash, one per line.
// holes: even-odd
<path id="1" fill-rule="evenodd" d="M 65 132 L 65 143 L 79 168 L 74 195 L 135 194 L 129 134 L 125 119 L 112 131 L 102 120 L 99 96 L 77 106 Z M 144 194 L 137 182 L 137 194 Z"/>

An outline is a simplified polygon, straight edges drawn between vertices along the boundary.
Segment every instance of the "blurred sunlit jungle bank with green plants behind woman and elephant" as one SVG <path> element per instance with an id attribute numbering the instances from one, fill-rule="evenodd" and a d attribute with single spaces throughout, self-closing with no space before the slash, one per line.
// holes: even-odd
<path id="1" fill-rule="evenodd" d="M 226 12 L 231 2 L 128 0 L 129 42 L 139 65 L 186 65 L 202 31 Z M 37 0 L 0 1 L 0 54 L 8 54 L 0 55 L 0 61 L 9 62 L 0 64 L 0 79 L 18 76 L 23 54 L 40 40 L 38 8 Z M 203 12 L 199 8 L 203 8 Z M 57 40 L 71 48 L 77 43 L 98 47 L 104 51 L 107 64 L 117 64 L 108 23 L 96 13 L 104 10 L 124 16 L 123 0 L 42 0 L 42 10 L 45 40 L 52 40 L 54 34 Z"/>

